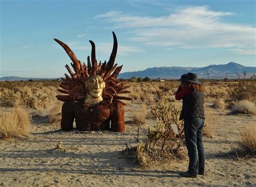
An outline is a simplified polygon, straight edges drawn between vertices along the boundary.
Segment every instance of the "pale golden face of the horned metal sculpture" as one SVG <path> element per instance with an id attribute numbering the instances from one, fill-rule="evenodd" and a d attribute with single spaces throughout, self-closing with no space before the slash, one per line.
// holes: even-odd
<path id="1" fill-rule="evenodd" d="M 102 92 L 105 88 L 105 82 L 101 76 L 93 75 L 87 78 L 85 88 L 89 95 L 94 98 L 98 98 L 102 96 Z"/>

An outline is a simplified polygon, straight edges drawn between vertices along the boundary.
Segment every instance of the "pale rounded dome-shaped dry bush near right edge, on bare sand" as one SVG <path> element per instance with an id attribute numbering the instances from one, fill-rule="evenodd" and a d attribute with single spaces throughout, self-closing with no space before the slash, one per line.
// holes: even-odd
<path id="1" fill-rule="evenodd" d="M 240 100 L 232 107 L 231 113 L 255 114 L 255 105 L 249 100 Z"/>

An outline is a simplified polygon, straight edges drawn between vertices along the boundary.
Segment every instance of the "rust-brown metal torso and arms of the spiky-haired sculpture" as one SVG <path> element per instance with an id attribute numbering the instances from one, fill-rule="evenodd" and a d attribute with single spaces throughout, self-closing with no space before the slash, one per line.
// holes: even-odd
<path id="1" fill-rule="evenodd" d="M 105 100 L 97 105 L 86 105 L 84 100 L 74 104 L 65 102 L 62 107 L 62 129 L 71 130 L 74 119 L 77 130 L 80 131 L 123 132 L 125 130 L 124 108 L 120 103 L 110 104 Z"/>

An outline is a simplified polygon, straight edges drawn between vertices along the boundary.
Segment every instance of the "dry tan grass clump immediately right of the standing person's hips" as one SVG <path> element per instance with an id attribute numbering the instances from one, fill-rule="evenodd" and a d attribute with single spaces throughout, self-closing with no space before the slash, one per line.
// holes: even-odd
<path id="1" fill-rule="evenodd" d="M 216 125 L 219 123 L 220 118 L 214 117 L 211 111 L 205 111 L 205 126 L 204 126 L 204 136 L 208 138 L 212 138 Z"/>

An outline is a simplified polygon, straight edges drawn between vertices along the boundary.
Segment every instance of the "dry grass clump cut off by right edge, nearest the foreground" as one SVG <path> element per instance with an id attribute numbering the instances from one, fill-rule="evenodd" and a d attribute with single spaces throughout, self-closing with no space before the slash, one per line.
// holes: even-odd
<path id="1" fill-rule="evenodd" d="M 239 150 L 242 155 L 256 155 L 256 126 L 241 130 L 241 139 L 238 142 Z"/>

